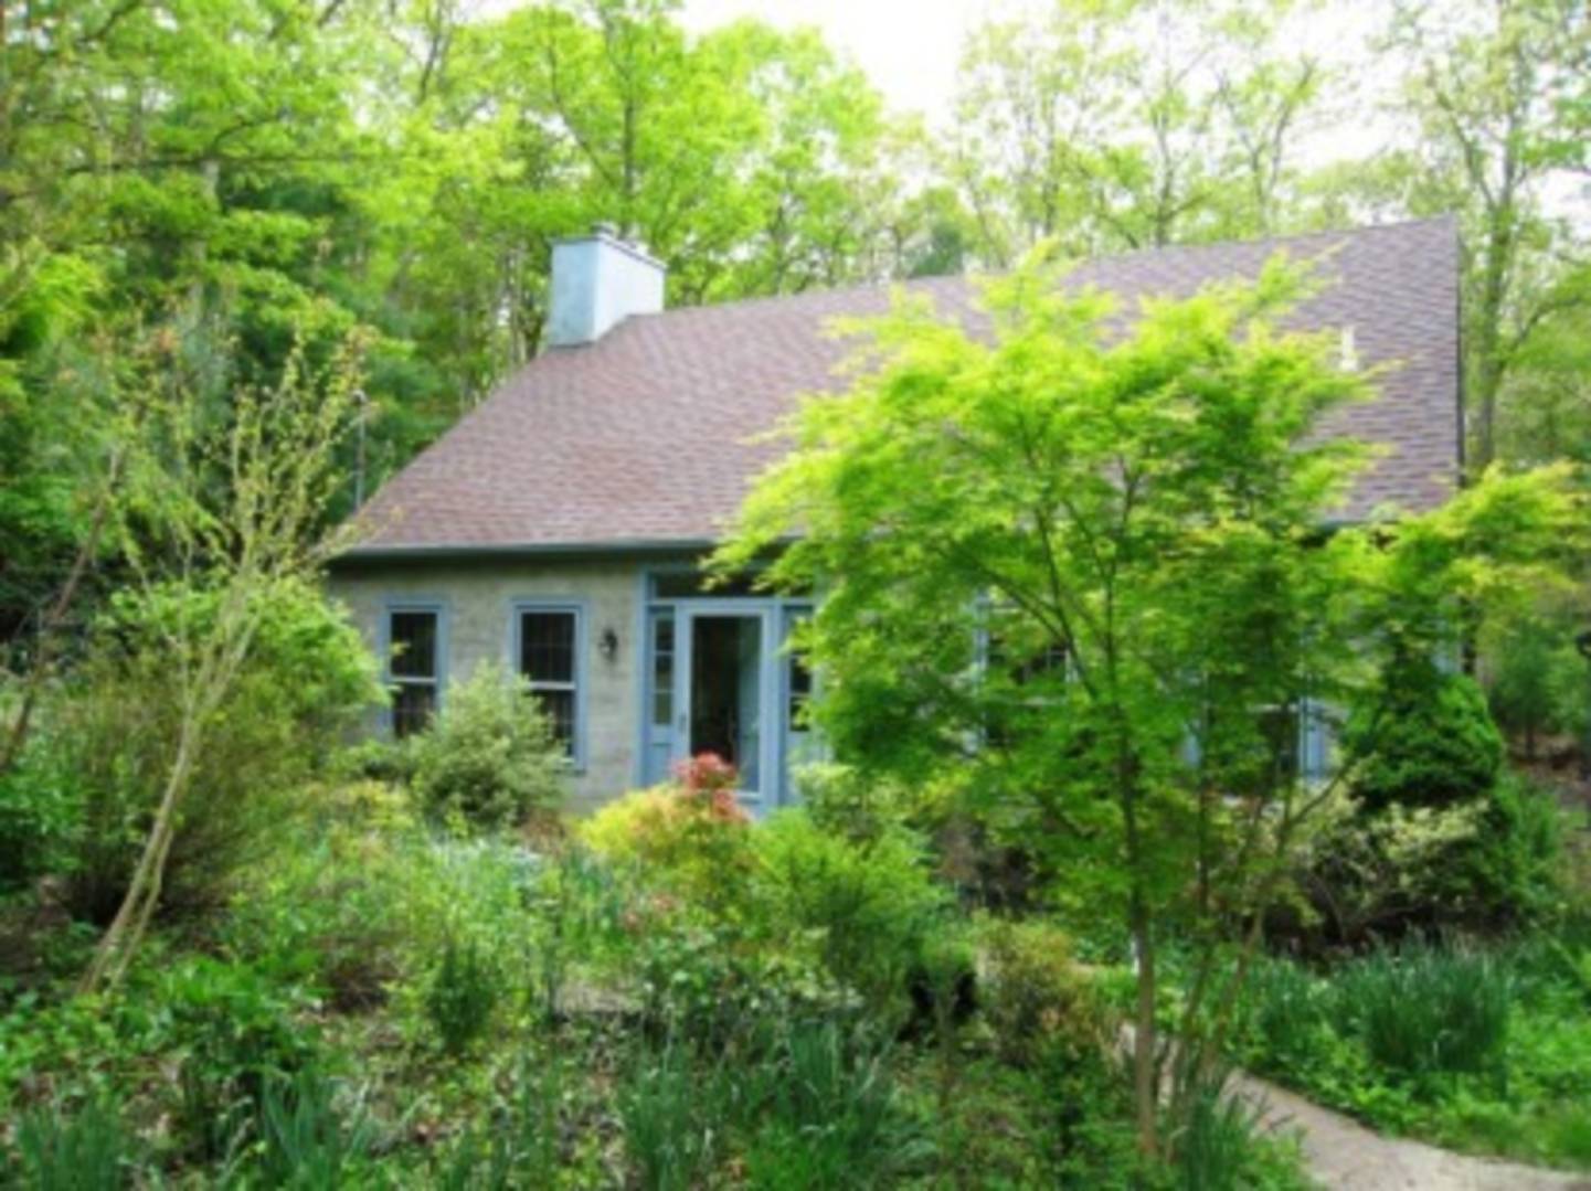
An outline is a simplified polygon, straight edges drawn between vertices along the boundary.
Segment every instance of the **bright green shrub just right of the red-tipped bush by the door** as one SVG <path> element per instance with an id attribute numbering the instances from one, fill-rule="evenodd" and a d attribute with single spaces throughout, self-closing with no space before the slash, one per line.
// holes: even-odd
<path id="1" fill-rule="evenodd" d="M 947 905 L 921 840 L 891 828 L 854 843 L 786 809 L 753 833 L 753 849 L 759 927 L 811 941 L 843 986 L 875 1000 L 897 995 Z"/>

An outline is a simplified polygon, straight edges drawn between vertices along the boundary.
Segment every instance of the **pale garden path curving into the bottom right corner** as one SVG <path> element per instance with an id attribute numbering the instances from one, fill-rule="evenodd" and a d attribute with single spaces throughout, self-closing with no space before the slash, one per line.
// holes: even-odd
<path id="1" fill-rule="evenodd" d="M 1254 1105 L 1263 1127 L 1298 1134 L 1309 1172 L 1332 1191 L 1591 1191 L 1591 1175 L 1540 1170 L 1383 1137 L 1349 1116 L 1252 1075 L 1233 1077 L 1231 1091 Z"/>

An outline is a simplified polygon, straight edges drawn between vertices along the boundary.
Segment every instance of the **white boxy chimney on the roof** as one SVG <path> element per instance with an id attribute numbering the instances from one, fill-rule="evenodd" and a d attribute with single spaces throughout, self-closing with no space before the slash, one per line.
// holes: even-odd
<path id="1" fill-rule="evenodd" d="M 611 224 L 554 242 L 549 347 L 595 343 L 630 315 L 662 308 L 662 262 L 620 240 Z"/>

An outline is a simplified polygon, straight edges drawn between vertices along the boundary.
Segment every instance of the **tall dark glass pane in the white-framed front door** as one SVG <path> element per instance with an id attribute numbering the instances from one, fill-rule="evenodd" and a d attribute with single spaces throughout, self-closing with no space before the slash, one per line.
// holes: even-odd
<path id="1" fill-rule="evenodd" d="M 760 789 L 762 619 L 705 615 L 690 627 L 690 755 L 713 752 Z"/>

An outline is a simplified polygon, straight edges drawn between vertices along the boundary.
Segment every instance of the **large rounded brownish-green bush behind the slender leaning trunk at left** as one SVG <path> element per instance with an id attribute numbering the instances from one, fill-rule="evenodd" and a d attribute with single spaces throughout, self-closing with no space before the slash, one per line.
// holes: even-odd
<path id="1" fill-rule="evenodd" d="M 278 584 L 256 598 L 267 611 L 205 727 L 162 884 L 167 910 L 220 905 L 302 809 L 305 779 L 382 696 L 358 631 L 318 590 Z M 107 922 L 121 903 L 175 754 L 172 654 L 207 631 L 216 599 L 178 587 L 119 596 L 95 625 L 89 660 L 41 709 L 41 755 L 30 765 L 73 808 L 62 867 L 78 917 Z"/>

